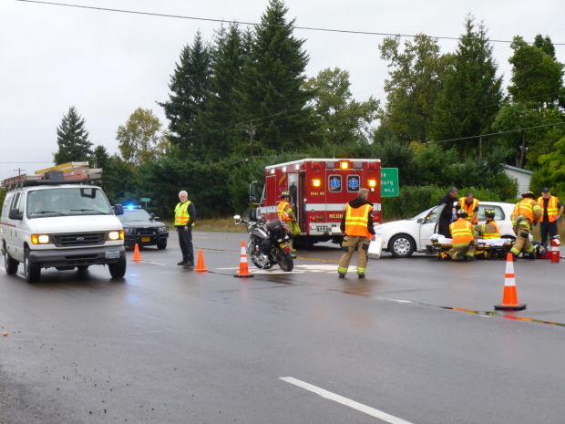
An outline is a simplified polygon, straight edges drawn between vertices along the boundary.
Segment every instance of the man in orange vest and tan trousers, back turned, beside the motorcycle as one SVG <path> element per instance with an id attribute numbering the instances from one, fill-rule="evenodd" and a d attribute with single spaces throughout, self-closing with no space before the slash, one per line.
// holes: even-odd
<path id="1" fill-rule="evenodd" d="M 340 278 L 344 278 L 347 274 L 355 251 L 357 251 L 357 277 L 365 278 L 369 244 L 375 240 L 373 203 L 367 201 L 368 197 L 367 189 L 359 189 L 358 197 L 345 204 L 345 213 L 341 223 L 341 230 L 344 233 L 342 243 L 344 254 L 337 266 L 337 275 Z"/>

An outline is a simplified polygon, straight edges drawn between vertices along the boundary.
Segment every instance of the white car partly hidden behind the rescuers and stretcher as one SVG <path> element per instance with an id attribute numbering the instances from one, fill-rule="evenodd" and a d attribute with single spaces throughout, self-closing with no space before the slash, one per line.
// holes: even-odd
<path id="1" fill-rule="evenodd" d="M 430 237 L 437 233 L 437 217 L 443 207 L 437 205 L 417 214 L 414 218 L 375 225 L 377 239 L 382 241 L 382 250 L 399 258 L 411 256 L 414 252 L 426 252 L 426 244 L 430 243 Z M 478 203 L 479 223 L 485 222 L 485 209 L 494 210 L 500 237 L 515 240 L 516 233 L 512 230 L 510 221 L 514 203 Z"/>

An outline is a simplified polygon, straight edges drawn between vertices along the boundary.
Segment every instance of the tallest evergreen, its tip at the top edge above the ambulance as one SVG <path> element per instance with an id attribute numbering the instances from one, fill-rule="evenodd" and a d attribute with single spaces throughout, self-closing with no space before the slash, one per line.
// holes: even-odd
<path id="1" fill-rule="evenodd" d="M 286 21 L 287 11 L 282 0 L 269 1 L 244 67 L 245 111 L 252 117 L 248 130 L 259 150 L 300 149 L 313 129 L 306 107 L 312 96 L 302 88 L 308 56 L 304 41 L 293 36 L 294 21 Z"/>

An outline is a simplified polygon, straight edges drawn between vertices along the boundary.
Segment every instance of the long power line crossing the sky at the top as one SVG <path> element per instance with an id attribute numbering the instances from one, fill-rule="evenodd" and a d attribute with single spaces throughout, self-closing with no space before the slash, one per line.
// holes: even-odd
<path id="1" fill-rule="evenodd" d="M 245 22 L 245 21 L 231 21 L 226 19 L 218 19 L 213 17 L 199 17 L 199 16 L 183 16 L 183 15 L 170 15 L 170 14 L 159 14 L 155 12 L 142 12 L 139 10 L 128 10 L 128 9 L 114 9 L 109 7 L 96 7 L 90 5 L 69 5 L 67 3 L 56 3 L 56 2 L 44 2 L 38 0 L 16 0 L 18 2 L 24 3 L 37 3 L 40 5 L 60 5 L 65 7 L 77 7 L 79 9 L 89 9 L 89 10 L 98 10 L 104 12 L 118 12 L 124 14 L 132 14 L 132 15 L 145 15 L 145 16 L 158 16 L 158 17 L 171 17 L 176 19 L 190 19 L 195 21 L 208 21 L 208 22 L 219 22 L 221 24 L 241 24 L 241 25 L 248 25 L 248 26 L 262 26 L 263 24 L 259 24 L 257 22 Z M 282 27 L 280 25 L 269 25 L 273 27 Z M 321 31 L 321 32 L 331 32 L 331 33 L 339 33 L 339 34 L 356 34 L 362 36 L 402 36 L 406 38 L 414 38 L 417 35 L 415 34 L 393 34 L 393 33 L 381 33 L 376 31 L 355 31 L 351 29 L 334 29 L 334 28 L 321 28 L 316 26 L 293 26 L 293 29 L 303 29 L 306 31 Z M 443 40 L 463 40 L 465 37 L 460 36 L 430 36 L 431 38 L 436 39 L 443 39 Z M 492 43 L 512 43 L 512 40 L 498 40 L 498 39 L 488 39 L 489 42 Z M 529 42 L 529 44 L 533 44 Z M 553 46 L 565 46 L 565 43 L 552 43 Z"/>

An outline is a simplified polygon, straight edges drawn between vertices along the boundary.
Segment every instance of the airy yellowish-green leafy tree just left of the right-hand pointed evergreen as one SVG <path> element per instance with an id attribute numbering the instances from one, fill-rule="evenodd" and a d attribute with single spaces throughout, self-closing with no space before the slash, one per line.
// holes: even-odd
<path id="1" fill-rule="evenodd" d="M 441 55 L 437 39 L 419 34 L 400 48 L 400 36 L 386 37 L 379 46 L 388 61 L 386 108 L 381 125 L 401 142 L 428 140 L 437 94 L 443 86 L 452 55 Z"/>

